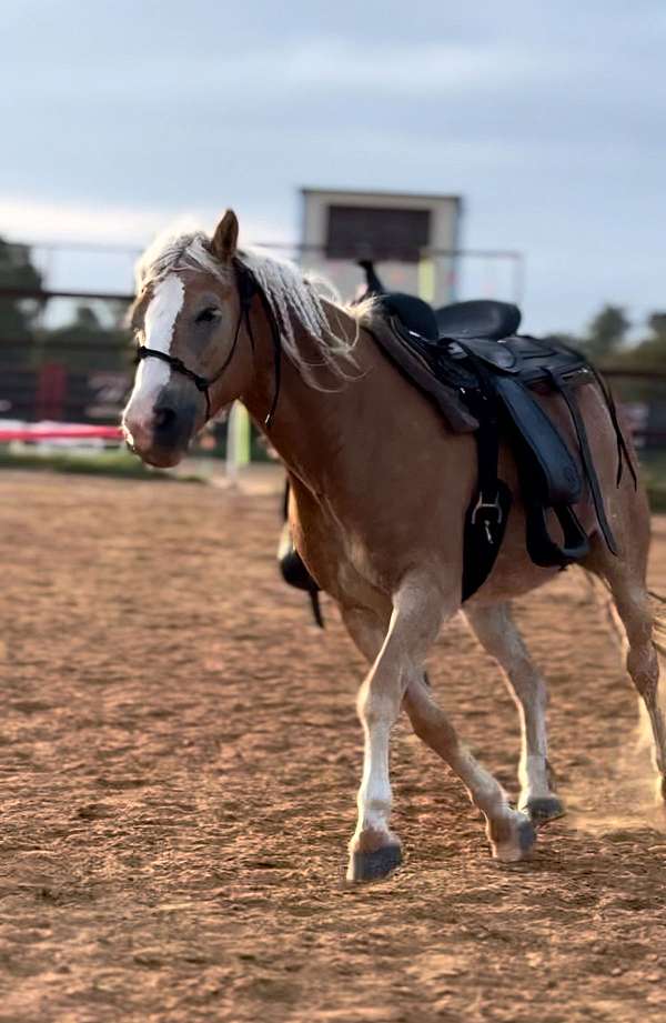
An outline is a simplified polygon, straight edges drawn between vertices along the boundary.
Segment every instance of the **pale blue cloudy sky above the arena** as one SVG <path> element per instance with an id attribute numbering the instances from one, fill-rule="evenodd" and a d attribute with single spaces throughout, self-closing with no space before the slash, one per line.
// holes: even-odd
<path id="1" fill-rule="evenodd" d="M 293 241 L 301 185 L 455 193 L 464 248 L 524 254 L 527 330 L 612 302 L 638 337 L 666 309 L 664 0 L 6 0 L 2 21 L 3 237 L 141 247 L 231 205 L 246 242 Z M 68 260 L 130 285 L 124 254 Z"/>

